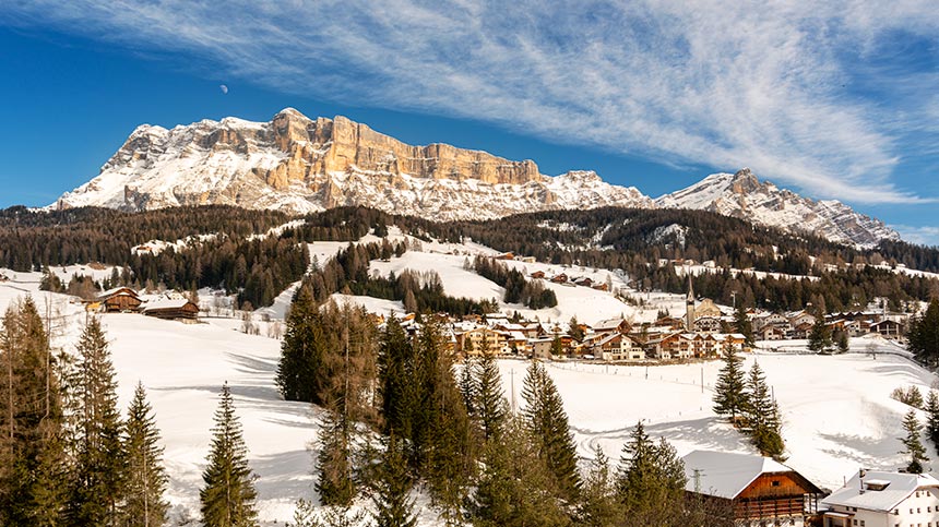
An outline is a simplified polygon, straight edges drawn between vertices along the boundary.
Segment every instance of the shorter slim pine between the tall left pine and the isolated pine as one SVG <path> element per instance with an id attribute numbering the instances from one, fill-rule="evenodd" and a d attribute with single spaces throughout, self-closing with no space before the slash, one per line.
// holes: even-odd
<path id="1" fill-rule="evenodd" d="M 123 507 L 128 527 L 159 527 L 166 523 L 169 504 L 164 499 L 168 481 L 163 467 L 163 447 L 153 409 L 146 402 L 143 384 L 138 383 L 124 423 L 127 455 L 127 502 Z"/>

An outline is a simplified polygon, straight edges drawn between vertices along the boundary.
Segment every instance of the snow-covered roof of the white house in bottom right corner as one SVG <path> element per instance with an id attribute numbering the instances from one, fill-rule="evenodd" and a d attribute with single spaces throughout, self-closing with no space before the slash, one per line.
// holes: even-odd
<path id="1" fill-rule="evenodd" d="M 861 484 L 865 487 L 863 492 Z M 869 484 L 882 487 L 882 490 L 871 490 L 867 488 Z M 855 474 L 844 487 L 822 500 L 822 504 L 890 512 L 910 498 L 910 494 L 929 487 L 939 488 L 939 480 L 928 474 L 867 470 L 863 481 L 860 472 Z"/>

